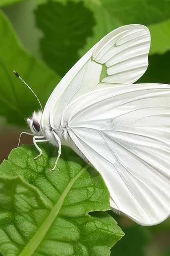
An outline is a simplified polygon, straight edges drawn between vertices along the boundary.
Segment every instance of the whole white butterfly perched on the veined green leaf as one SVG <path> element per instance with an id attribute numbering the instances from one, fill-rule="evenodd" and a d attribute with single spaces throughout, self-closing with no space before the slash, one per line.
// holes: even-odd
<path id="1" fill-rule="evenodd" d="M 147 69 L 149 48 L 147 27 L 115 29 L 27 119 L 38 157 L 39 141 L 59 146 L 57 160 L 61 144 L 70 146 L 101 173 L 114 211 L 141 225 L 170 214 L 170 85 L 132 84 Z"/>

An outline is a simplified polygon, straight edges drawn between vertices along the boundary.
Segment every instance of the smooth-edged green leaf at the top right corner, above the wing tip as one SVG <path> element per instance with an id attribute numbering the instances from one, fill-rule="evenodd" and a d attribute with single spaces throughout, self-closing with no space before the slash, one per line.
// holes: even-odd
<path id="1" fill-rule="evenodd" d="M 170 2 L 167 0 L 101 0 L 101 2 L 116 20 L 124 24 L 151 24 L 170 17 Z"/>

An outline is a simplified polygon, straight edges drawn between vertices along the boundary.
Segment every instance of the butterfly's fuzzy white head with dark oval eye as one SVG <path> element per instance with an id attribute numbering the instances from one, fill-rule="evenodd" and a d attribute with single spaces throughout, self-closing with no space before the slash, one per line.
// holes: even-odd
<path id="1" fill-rule="evenodd" d="M 31 132 L 33 132 L 34 135 L 43 135 L 42 133 L 42 129 L 41 129 L 41 119 L 42 119 L 42 111 L 34 111 L 33 115 L 31 118 L 27 118 L 27 124 L 31 130 Z"/>

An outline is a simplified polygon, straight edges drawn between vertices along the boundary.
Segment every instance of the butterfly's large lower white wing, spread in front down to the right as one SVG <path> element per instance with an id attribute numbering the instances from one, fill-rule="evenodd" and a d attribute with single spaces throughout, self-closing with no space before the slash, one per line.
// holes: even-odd
<path id="1" fill-rule="evenodd" d="M 69 135 L 102 174 L 111 206 L 143 225 L 170 213 L 169 99 L 168 85 L 125 85 L 88 93 L 65 110 Z"/>

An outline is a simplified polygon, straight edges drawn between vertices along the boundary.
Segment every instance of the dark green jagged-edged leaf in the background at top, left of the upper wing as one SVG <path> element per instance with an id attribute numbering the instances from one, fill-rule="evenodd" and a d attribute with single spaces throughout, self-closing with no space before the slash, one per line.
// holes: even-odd
<path id="1" fill-rule="evenodd" d="M 64 76 L 78 61 L 78 50 L 85 45 L 86 38 L 93 35 L 93 13 L 83 2 L 49 1 L 39 5 L 35 15 L 37 26 L 44 32 L 40 42 L 43 58 Z"/>

